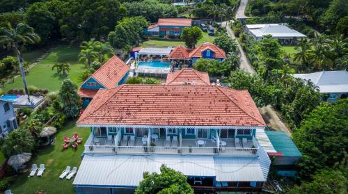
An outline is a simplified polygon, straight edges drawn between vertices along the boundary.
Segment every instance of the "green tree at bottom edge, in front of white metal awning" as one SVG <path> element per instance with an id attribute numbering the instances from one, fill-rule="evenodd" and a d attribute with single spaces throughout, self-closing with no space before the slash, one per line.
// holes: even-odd
<path id="1" fill-rule="evenodd" d="M 156 172 L 150 174 L 144 172 L 143 180 L 140 182 L 135 193 L 190 193 L 193 194 L 193 189 L 187 183 L 187 177 L 182 175 L 166 165 L 161 165 L 161 173 Z"/>

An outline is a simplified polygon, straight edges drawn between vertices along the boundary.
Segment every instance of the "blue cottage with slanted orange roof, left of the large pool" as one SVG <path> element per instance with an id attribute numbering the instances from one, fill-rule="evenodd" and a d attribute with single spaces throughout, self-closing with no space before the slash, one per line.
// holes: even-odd
<path id="1" fill-rule="evenodd" d="M 125 83 L 128 74 L 129 66 L 118 56 L 111 57 L 81 84 L 78 93 L 83 100 L 83 106 L 89 104 L 99 89 L 115 88 Z"/>

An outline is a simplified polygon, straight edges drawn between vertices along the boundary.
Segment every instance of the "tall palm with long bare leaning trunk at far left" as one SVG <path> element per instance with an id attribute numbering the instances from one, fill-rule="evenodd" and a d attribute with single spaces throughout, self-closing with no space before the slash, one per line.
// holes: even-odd
<path id="1" fill-rule="evenodd" d="M 25 45 L 26 43 L 34 44 L 39 41 L 40 41 L 39 35 L 34 33 L 34 29 L 26 24 L 19 23 L 17 24 L 15 29 L 13 29 L 12 27 L 0 28 L 0 45 L 12 47 L 13 49 L 15 49 L 15 52 L 17 54 L 17 58 L 19 61 L 19 70 L 22 74 L 24 90 L 26 95 L 28 96 L 29 102 L 30 102 L 30 97 L 29 97 L 28 87 L 26 86 L 25 72 L 23 69 L 23 56 L 22 56 L 22 52 L 20 51 L 20 48 L 22 45 Z"/>

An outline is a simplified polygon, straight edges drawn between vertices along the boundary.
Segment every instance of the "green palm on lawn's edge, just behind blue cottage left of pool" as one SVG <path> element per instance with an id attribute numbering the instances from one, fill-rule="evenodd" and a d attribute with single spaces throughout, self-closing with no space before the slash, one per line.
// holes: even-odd
<path id="1" fill-rule="evenodd" d="M 95 41 L 93 39 L 84 41 L 81 43 L 80 48 L 79 60 L 84 60 L 84 63 L 90 67 L 90 63 L 92 63 L 93 59 L 98 57 L 98 53 L 95 51 Z"/>

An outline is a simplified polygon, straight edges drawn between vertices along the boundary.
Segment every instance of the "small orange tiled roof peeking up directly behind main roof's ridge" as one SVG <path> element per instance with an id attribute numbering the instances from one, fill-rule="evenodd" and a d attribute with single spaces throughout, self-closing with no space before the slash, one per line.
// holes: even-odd
<path id="1" fill-rule="evenodd" d="M 184 85 L 185 82 L 194 82 L 192 85 L 210 85 L 209 75 L 207 73 L 198 72 L 193 69 L 182 69 L 177 72 L 168 73 L 167 75 L 167 85 Z"/>

